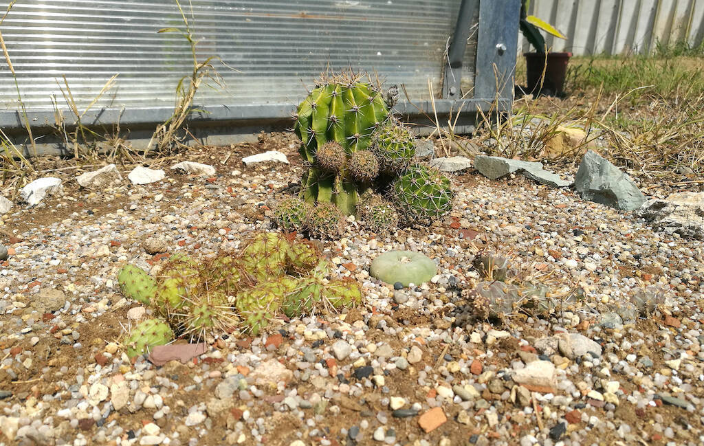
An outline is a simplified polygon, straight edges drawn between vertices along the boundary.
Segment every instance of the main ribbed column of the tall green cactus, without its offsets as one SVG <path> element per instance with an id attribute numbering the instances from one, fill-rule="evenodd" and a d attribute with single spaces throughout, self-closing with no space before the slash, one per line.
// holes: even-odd
<path id="1" fill-rule="evenodd" d="M 310 165 L 303 177 L 301 196 L 308 203 L 331 202 L 346 215 L 355 212 L 360 185 L 349 172 L 347 162 L 354 153 L 366 150 L 372 132 L 389 117 L 382 94 L 356 75 L 322 79 L 296 110 L 294 131 L 301 139 L 301 157 Z M 318 162 L 318 148 L 339 144 L 346 163 Z M 334 160 L 334 158 L 332 158 Z"/>

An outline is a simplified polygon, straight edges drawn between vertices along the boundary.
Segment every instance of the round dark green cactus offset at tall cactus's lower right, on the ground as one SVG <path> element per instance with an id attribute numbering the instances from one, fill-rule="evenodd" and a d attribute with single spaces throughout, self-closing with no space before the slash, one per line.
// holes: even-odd
<path id="1" fill-rule="evenodd" d="M 398 212 L 413 222 L 433 221 L 449 212 L 453 193 L 450 180 L 437 170 L 416 165 L 409 167 L 391 189 L 391 200 Z"/>

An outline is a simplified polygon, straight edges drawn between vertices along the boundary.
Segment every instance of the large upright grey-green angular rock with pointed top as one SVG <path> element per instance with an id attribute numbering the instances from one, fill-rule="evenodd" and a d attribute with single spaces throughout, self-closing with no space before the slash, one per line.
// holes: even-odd
<path id="1" fill-rule="evenodd" d="M 620 210 L 638 209 L 646 201 L 631 177 L 594 151 L 584 154 L 574 189 L 584 200 Z"/>

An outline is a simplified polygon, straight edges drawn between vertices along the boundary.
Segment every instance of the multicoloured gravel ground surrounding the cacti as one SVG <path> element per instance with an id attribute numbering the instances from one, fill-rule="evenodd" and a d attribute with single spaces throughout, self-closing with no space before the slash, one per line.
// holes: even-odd
<path id="1" fill-rule="evenodd" d="M 271 148 L 292 164 L 241 165 Z M 182 159 L 215 177 L 166 169 L 132 186 L 125 172 L 95 192 L 63 174 L 62 196 L 1 217 L 0 444 L 704 442 L 701 244 L 522 177 L 467 172 L 432 227 L 375 238 L 352 223 L 322 242 L 339 274 L 363 283 L 363 307 L 282 319 L 258 338 L 232 333 L 187 364 L 131 364 L 118 340 L 139 304 L 120 295 L 118 269 L 158 267 L 150 237 L 163 243 L 150 252 L 197 256 L 271 229 L 266 205 L 300 175 L 295 152 L 282 136 L 204 149 Z M 440 274 L 401 290 L 370 278 L 370 261 L 391 249 L 425 253 Z M 480 279 L 480 251 L 548 283 L 560 307 L 468 318 L 463 289 Z M 624 321 L 619 310 L 646 286 L 664 299 Z"/>

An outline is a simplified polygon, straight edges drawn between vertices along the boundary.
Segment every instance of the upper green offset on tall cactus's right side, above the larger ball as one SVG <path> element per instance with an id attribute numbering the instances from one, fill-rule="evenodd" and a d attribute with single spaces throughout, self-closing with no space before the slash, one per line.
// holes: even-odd
<path id="1" fill-rule="evenodd" d="M 415 155 L 415 139 L 398 120 L 388 120 L 372 135 L 371 151 L 379 158 L 384 172 L 403 173 Z"/>

